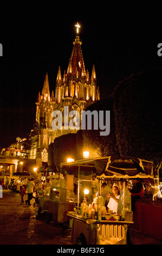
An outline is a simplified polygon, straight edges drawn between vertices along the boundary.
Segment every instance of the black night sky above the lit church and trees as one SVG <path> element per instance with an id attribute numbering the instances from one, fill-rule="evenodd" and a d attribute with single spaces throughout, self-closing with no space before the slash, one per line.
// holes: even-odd
<path id="1" fill-rule="evenodd" d="M 162 66 L 157 55 L 161 42 L 161 5 L 33 1 L 3 3 L 0 10 L 0 148 L 33 127 L 36 98 L 46 72 L 50 93 L 55 92 L 59 66 L 68 68 L 81 25 L 82 53 L 90 75 L 95 65 L 100 96 L 113 92 L 118 81 L 137 72 Z M 57 1 L 58 2 L 58 1 Z M 89 5 L 89 6 L 88 6 Z"/>

